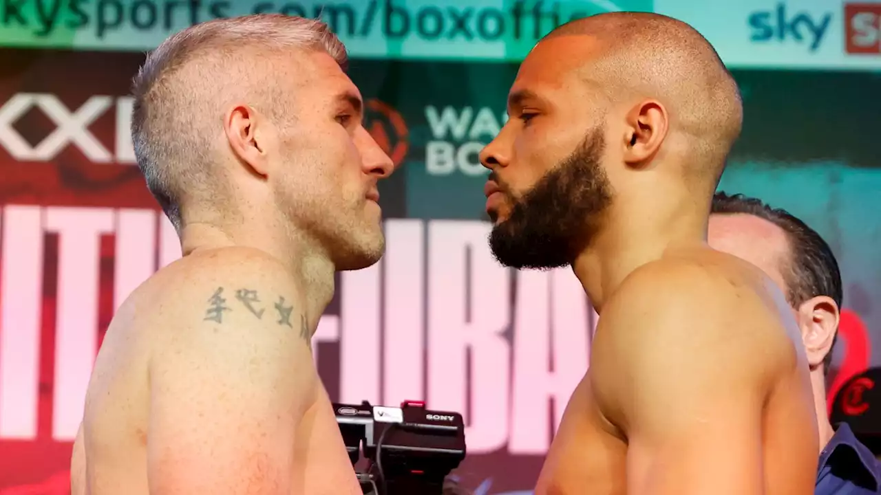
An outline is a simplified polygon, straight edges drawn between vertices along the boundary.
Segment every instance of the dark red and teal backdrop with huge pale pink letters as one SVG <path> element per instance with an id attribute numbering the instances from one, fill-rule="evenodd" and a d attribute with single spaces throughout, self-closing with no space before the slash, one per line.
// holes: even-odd
<path id="1" fill-rule="evenodd" d="M 13 4 L 3 4 L 7 16 Z M 70 445 L 107 324 L 181 255 L 134 163 L 128 94 L 144 55 L 70 48 L 0 48 L 0 495 L 68 493 Z M 463 412 L 468 458 L 456 474 L 478 495 L 534 485 L 589 366 L 597 319 L 570 270 L 507 270 L 487 246 L 478 151 L 506 121 L 516 70 L 505 60 L 353 61 L 367 129 L 402 166 L 381 183 L 387 255 L 339 275 L 314 344 L 333 401 L 426 400 Z M 871 345 L 881 334 L 881 166 L 864 139 L 881 115 L 879 80 L 735 77 L 744 133 L 721 188 L 792 211 L 838 256 L 845 314 L 833 393 L 881 362 Z"/>

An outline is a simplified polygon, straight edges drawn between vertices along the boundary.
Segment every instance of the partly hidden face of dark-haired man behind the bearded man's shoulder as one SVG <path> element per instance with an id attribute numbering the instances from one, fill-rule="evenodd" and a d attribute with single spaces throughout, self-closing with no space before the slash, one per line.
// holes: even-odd
<path id="1" fill-rule="evenodd" d="M 789 260 L 789 242 L 777 225 L 745 213 L 714 213 L 707 241 L 710 247 L 759 267 L 788 294 L 783 270 Z"/>

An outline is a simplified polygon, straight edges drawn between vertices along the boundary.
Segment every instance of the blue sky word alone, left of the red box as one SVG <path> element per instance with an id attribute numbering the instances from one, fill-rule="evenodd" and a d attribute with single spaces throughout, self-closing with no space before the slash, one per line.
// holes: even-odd
<path id="1" fill-rule="evenodd" d="M 750 40 L 757 43 L 796 43 L 815 52 L 822 44 L 832 22 L 832 13 L 820 18 L 807 11 L 790 11 L 786 4 L 777 4 L 774 10 L 754 11 L 747 18 Z"/>

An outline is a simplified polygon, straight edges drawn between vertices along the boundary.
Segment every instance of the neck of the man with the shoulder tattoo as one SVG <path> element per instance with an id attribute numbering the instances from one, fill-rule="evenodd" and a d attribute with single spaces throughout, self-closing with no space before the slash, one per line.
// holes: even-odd
<path id="1" fill-rule="evenodd" d="M 304 233 L 295 232 L 280 221 L 267 221 L 268 216 L 235 218 L 234 222 L 218 222 L 185 218 L 179 232 L 184 256 L 222 247 L 250 247 L 269 255 L 285 267 L 294 282 L 306 295 L 306 317 L 313 333 L 334 294 L 333 262 L 319 242 Z"/>

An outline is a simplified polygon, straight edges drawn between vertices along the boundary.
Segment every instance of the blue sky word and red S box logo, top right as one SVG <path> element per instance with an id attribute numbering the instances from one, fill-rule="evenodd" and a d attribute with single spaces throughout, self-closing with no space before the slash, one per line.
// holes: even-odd
<path id="1" fill-rule="evenodd" d="M 844 4 L 844 46 L 848 54 L 881 53 L 881 4 Z M 750 40 L 803 46 L 814 53 L 823 46 L 833 26 L 834 14 L 798 10 L 786 3 L 753 11 L 747 18 Z"/>

